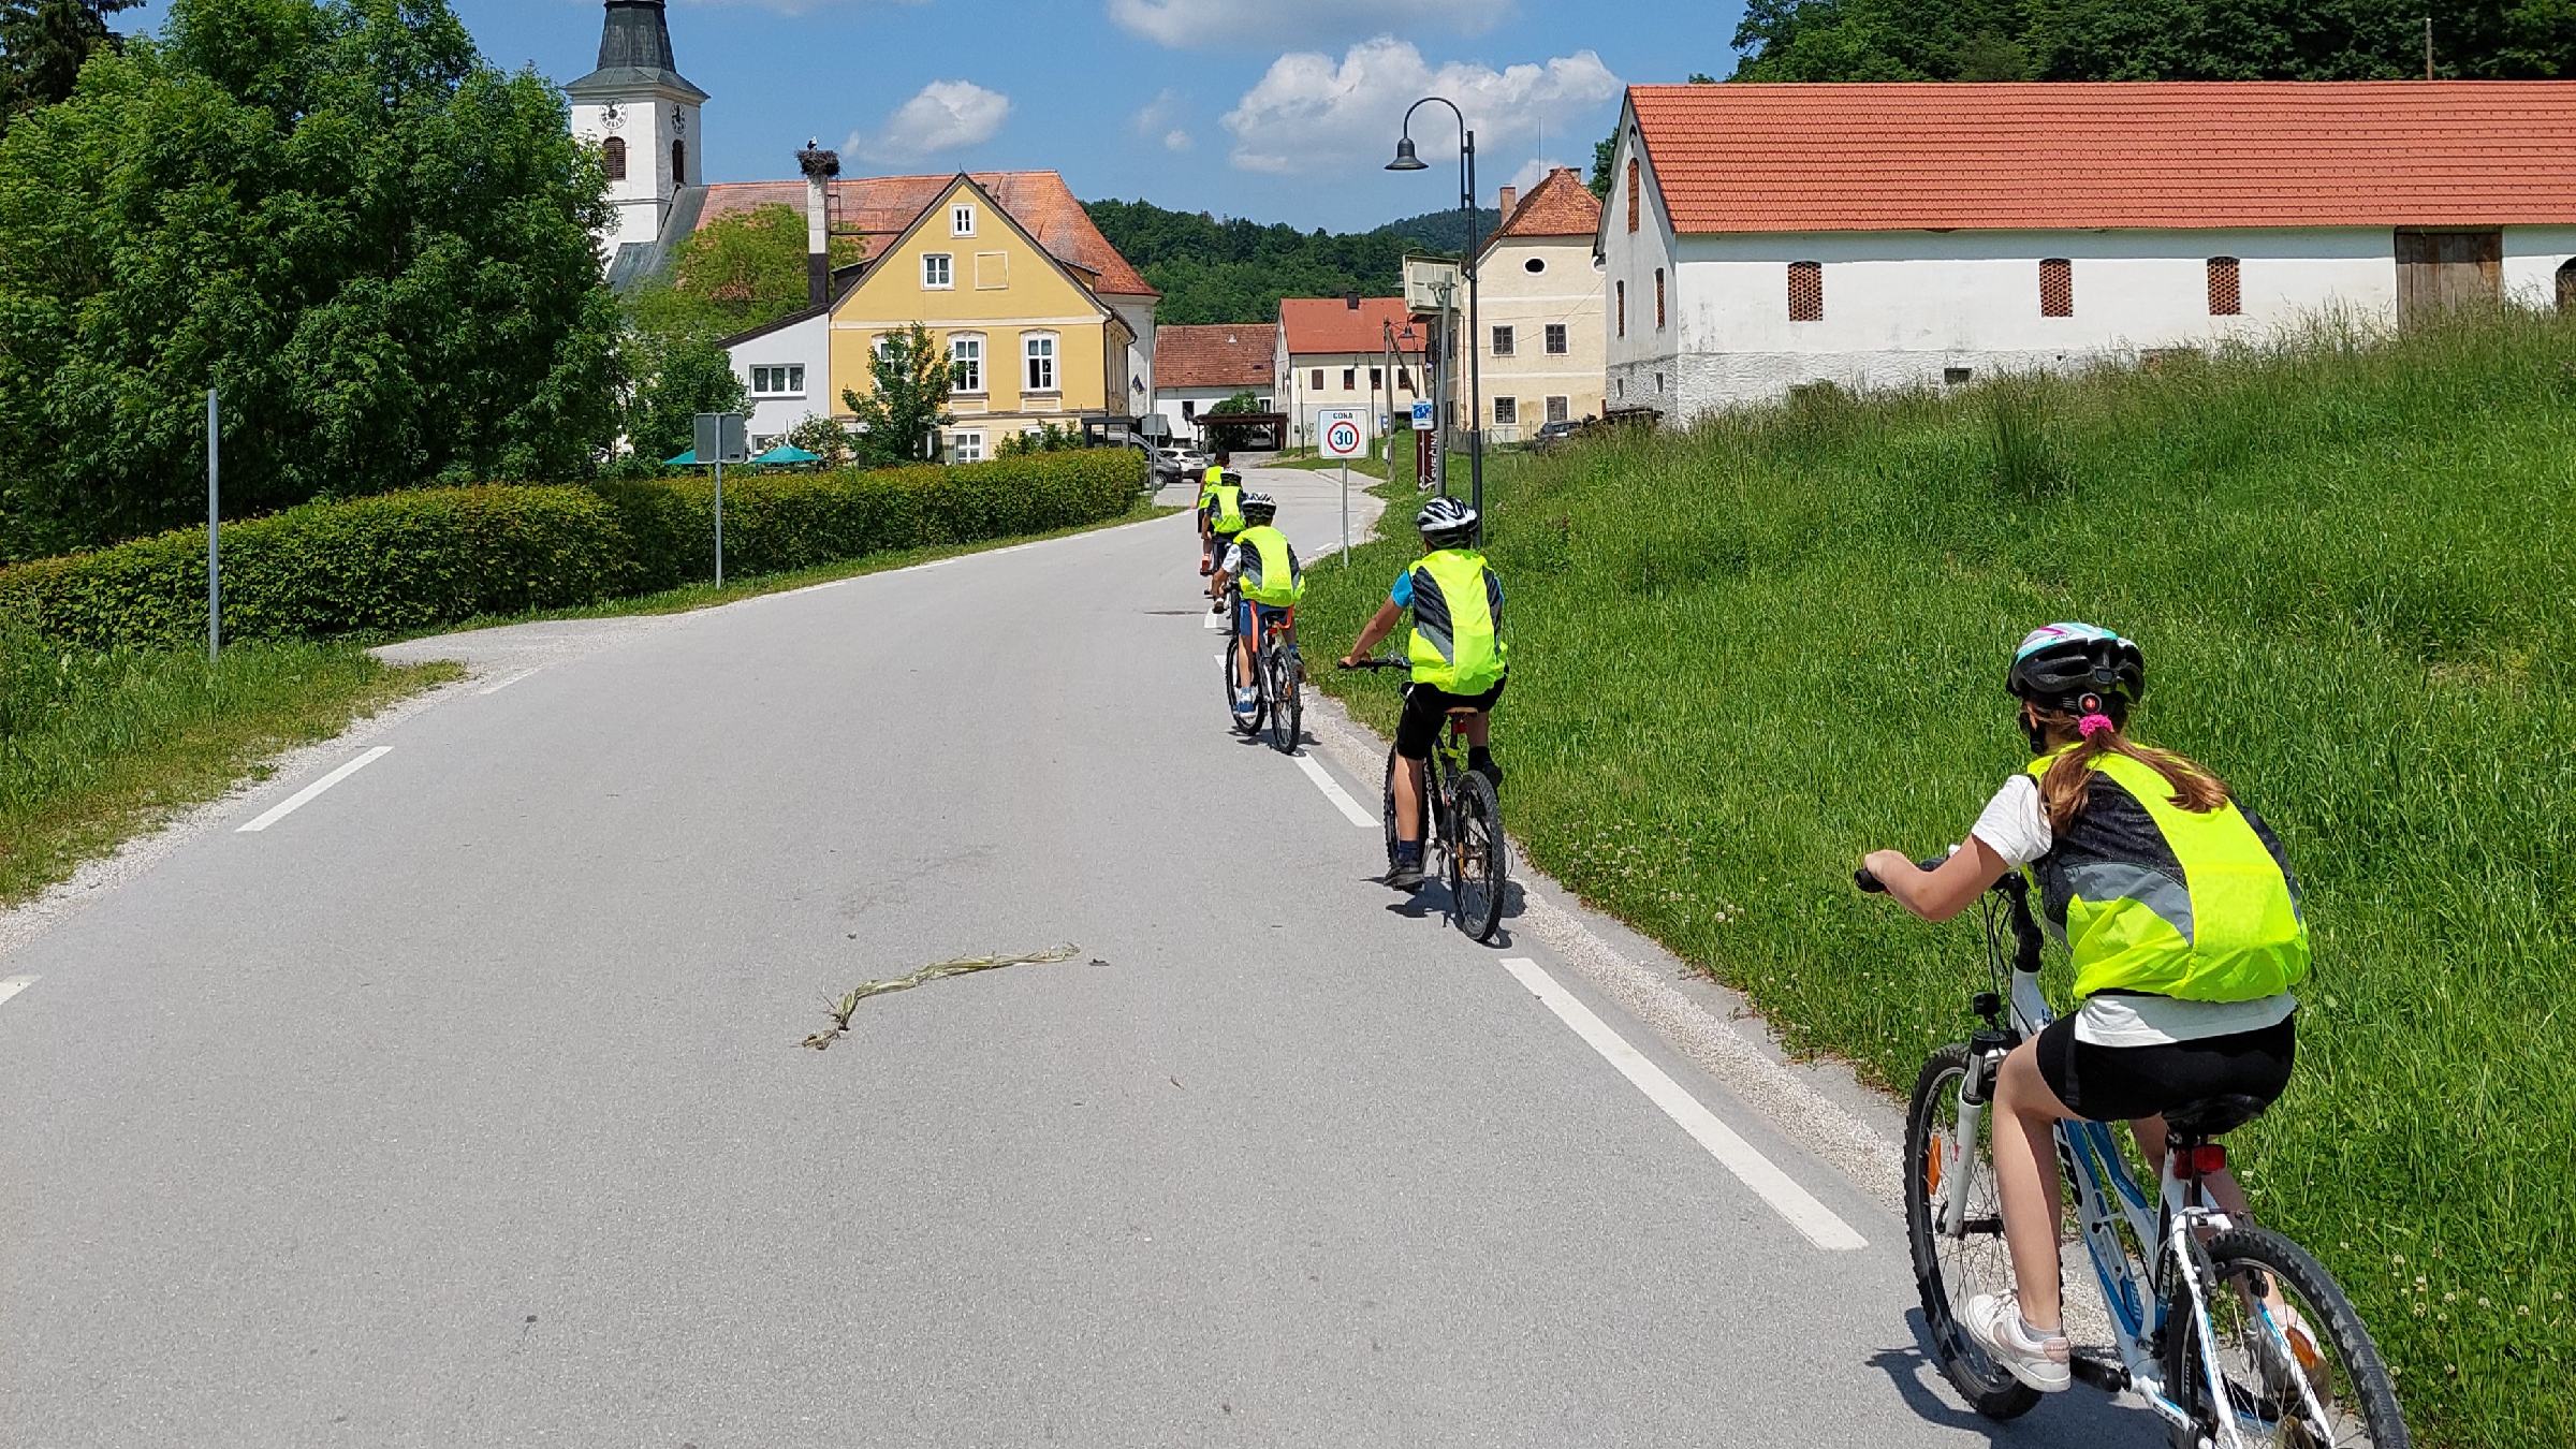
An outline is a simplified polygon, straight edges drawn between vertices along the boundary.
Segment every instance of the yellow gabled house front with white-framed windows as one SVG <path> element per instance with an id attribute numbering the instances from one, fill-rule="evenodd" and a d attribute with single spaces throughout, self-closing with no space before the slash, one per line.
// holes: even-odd
<path id="1" fill-rule="evenodd" d="M 866 397 L 871 351 L 914 322 L 951 364 L 951 462 L 989 459 L 1046 423 L 1128 415 L 1136 330 L 1095 284 L 958 175 L 832 304 L 832 415 L 850 415 L 842 389 Z"/>

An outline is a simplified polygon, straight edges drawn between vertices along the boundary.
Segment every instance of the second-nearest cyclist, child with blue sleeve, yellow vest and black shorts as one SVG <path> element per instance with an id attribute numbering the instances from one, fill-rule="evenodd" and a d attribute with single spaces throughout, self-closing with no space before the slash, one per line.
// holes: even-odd
<path id="1" fill-rule="evenodd" d="M 1414 683 L 1404 691 L 1404 719 L 1396 724 L 1396 758 L 1404 761 L 1396 771 L 1396 866 L 1386 877 L 1396 890 L 1422 884 L 1422 761 L 1453 709 L 1468 712 L 1468 768 L 1502 789 L 1492 750 L 1492 712 L 1507 683 L 1502 578 L 1476 552 L 1476 511 L 1466 503 L 1432 498 L 1414 526 L 1422 531 L 1422 559 L 1396 578 L 1342 657 L 1342 668 L 1358 668 L 1404 621 L 1404 611 L 1414 611 L 1406 642 Z"/>

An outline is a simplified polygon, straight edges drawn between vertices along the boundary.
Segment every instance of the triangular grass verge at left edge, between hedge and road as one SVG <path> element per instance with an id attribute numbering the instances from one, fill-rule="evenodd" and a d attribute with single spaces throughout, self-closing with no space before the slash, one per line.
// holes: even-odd
<path id="1" fill-rule="evenodd" d="M 85 652 L 0 639 L 0 905 L 214 799 L 268 755 L 456 678 L 348 645 Z"/>

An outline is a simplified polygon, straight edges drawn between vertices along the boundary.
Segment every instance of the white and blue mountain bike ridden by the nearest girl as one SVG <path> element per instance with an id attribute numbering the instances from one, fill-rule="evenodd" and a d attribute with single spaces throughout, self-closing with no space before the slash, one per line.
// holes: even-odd
<path id="1" fill-rule="evenodd" d="M 1870 871 L 1855 884 L 1886 890 Z M 2004 1421 L 2040 1395 L 1994 1364 L 1958 1312 L 1978 1292 L 2012 1289 L 1986 1106 L 2004 1055 L 2053 1013 L 2027 882 L 2007 874 L 1981 915 L 1984 1029 L 1932 1052 L 1906 1111 L 1906 1240 L 1942 1374 L 1976 1413 Z M 2076 1346 L 2069 1369 L 2102 1392 L 2136 1392 L 2177 1449 L 2401 1449 L 2396 1385 L 2344 1289 L 2306 1248 L 2233 1220 L 2202 1186 L 2228 1160 L 2218 1137 L 2262 1109 L 2218 1096 L 2166 1111 L 2156 1196 L 2130 1176 L 2110 1124 L 2058 1122 L 2058 1171 L 2112 1338 Z"/>

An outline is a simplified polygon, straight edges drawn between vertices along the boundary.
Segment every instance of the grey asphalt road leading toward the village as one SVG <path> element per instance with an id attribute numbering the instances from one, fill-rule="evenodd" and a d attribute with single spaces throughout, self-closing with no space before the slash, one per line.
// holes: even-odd
<path id="1" fill-rule="evenodd" d="M 1896 1217 L 1373 884 L 1195 588 L 1167 518 L 428 645 L 0 959 L 0 1444 L 2151 1441 L 1929 1387 Z"/>

